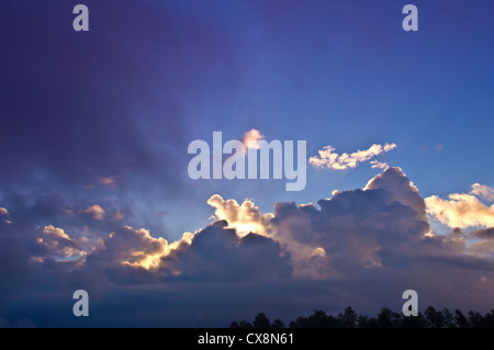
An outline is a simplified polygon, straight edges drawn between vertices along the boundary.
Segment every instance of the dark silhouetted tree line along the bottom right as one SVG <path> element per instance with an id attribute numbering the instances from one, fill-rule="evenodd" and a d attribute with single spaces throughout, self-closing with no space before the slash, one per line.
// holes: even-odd
<path id="1" fill-rule="evenodd" d="M 428 306 L 417 316 L 405 317 L 388 307 L 381 308 L 375 317 L 357 314 L 351 306 L 336 316 L 316 309 L 311 316 L 300 316 L 290 321 L 290 328 L 494 328 L 494 308 L 482 315 L 469 311 L 463 314 L 460 309 L 450 312 L 448 308 L 436 309 Z M 285 328 L 284 323 L 276 318 L 273 321 L 259 313 L 252 323 L 243 319 L 232 321 L 229 328 Z"/>

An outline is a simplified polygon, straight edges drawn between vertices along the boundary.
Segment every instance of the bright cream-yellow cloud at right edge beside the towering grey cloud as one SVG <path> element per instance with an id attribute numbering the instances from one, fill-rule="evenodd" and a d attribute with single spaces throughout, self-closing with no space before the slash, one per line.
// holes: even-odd
<path id="1" fill-rule="evenodd" d="M 494 226 L 494 204 L 487 206 L 472 194 L 453 193 L 448 200 L 431 195 L 425 201 L 427 213 L 449 227 Z"/>

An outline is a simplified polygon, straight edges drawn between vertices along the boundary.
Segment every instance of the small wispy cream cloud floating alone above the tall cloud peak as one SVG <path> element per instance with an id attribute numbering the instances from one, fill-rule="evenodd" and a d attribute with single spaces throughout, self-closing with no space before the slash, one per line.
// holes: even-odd
<path id="1" fill-rule="evenodd" d="M 335 170 L 346 170 L 356 168 L 358 163 L 368 161 L 379 155 L 385 154 L 393 148 L 395 148 L 395 144 L 385 144 L 384 146 L 373 144 L 369 149 L 358 150 L 352 154 L 344 153 L 338 155 L 335 153 L 336 148 L 332 146 L 325 146 L 322 150 L 318 151 L 318 156 L 311 157 L 308 159 L 308 163 L 318 168 L 329 168 Z M 372 162 L 373 167 L 384 166 L 381 162 Z"/>

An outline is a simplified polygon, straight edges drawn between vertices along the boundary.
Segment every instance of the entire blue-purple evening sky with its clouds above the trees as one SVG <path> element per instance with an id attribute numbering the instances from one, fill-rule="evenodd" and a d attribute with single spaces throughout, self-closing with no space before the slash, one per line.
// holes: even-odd
<path id="1" fill-rule="evenodd" d="M 492 1 L 77 3 L 0 4 L 0 326 L 494 307 Z M 214 132 L 306 185 L 191 179 Z"/>

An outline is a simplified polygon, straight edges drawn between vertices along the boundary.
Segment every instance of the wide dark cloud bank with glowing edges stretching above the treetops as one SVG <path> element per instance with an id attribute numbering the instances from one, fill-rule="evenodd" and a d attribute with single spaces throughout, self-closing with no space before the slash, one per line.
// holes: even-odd
<path id="1" fill-rule="evenodd" d="M 347 305 L 400 308 L 407 289 L 424 307 L 492 308 L 493 227 L 437 235 L 428 205 L 444 203 L 435 201 L 400 168 L 362 190 L 317 205 L 279 202 L 272 213 L 214 194 L 213 223 L 171 242 L 125 218 L 79 213 L 63 228 L 10 211 L 12 223 L 0 222 L 0 315 L 41 327 L 221 327 L 252 309 L 290 318 Z M 106 222 L 114 226 L 105 234 Z M 85 320 L 70 312 L 77 289 L 90 295 Z"/>

